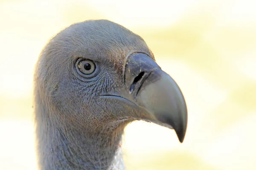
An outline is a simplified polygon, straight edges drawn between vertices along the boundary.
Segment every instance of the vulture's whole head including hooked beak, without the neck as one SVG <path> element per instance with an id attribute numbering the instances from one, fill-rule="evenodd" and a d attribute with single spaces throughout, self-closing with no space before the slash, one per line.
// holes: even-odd
<path id="1" fill-rule="evenodd" d="M 76 23 L 49 41 L 37 69 L 36 93 L 59 125 L 95 133 L 144 120 L 173 128 L 183 142 L 183 94 L 128 29 L 108 20 Z"/>

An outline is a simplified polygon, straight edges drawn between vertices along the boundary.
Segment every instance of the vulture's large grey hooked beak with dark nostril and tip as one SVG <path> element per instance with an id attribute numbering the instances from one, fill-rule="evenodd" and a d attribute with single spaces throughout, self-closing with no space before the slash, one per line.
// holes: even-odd
<path id="1" fill-rule="evenodd" d="M 172 77 L 144 53 L 128 56 L 123 73 L 124 88 L 115 96 L 122 97 L 125 105 L 131 102 L 137 105 L 138 114 L 134 117 L 173 128 L 183 142 L 187 127 L 186 102 Z"/>

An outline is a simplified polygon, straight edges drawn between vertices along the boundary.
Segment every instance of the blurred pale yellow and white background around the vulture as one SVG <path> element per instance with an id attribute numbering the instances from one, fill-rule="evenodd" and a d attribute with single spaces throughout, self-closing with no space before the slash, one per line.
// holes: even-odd
<path id="1" fill-rule="evenodd" d="M 144 38 L 189 111 L 173 130 L 125 130 L 128 170 L 256 170 L 256 1 L 0 0 L 0 169 L 35 170 L 32 77 L 50 37 L 108 19 Z"/>

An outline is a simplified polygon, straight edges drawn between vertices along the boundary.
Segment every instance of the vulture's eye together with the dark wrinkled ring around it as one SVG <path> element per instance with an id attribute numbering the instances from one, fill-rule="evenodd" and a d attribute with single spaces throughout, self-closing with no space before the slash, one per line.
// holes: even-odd
<path id="1" fill-rule="evenodd" d="M 98 66 L 97 62 L 91 59 L 79 58 L 76 60 L 75 70 L 81 77 L 90 79 L 99 73 Z"/>

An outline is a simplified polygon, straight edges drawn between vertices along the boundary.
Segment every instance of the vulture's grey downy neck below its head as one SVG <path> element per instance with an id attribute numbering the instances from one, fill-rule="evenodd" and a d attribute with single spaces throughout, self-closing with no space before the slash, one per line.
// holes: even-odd
<path id="1" fill-rule="evenodd" d="M 36 114 L 41 170 L 125 169 L 120 147 L 123 130 L 89 133 L 91 130 L 76 127 L 75 123 L 67 125 L 52 119 L 47 113 Z"/>

